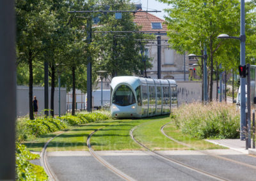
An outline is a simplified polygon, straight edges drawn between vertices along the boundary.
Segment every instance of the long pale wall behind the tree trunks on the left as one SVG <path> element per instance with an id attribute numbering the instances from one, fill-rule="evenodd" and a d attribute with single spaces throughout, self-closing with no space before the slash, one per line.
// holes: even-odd
<path id="1" fill-rule="evenodd" d="M 24 116 L 29 114 L 29 87 L 17 85 L 17 116 Z M 58 87 L 54 91 L 54 114 L 59 113 L 59 91 Z M 60 100 L 61 100 L 61 114 L 66 113 L 66 88 L 60 90 Z M 36 96 L 38 100 L 38 113 L 44 110 L 44 87 L 33 87 L 33 97 Z M 51 87 L 49 87 L 49 109 L 51 108 Z M 13 105 L 15 106 L 15 105 Z"/>

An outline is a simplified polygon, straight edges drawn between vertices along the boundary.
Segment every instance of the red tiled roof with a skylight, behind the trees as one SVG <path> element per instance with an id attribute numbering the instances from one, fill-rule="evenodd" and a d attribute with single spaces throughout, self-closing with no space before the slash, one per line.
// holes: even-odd
<path id="1" fill-rule="evenodd" d="M 145 11 L 140 12 L 141 10 L 138 10 L 138 12 L 134 13 L 134 22 L 137 25 L 142 26 L 141 31 L 167 31 L 166 24 L 164 24 L 164 20 L 162 20 L 159 17 L 156 17 L 155 15 L 152 15 L 150 13 L 147 13 Z M 152 22 L 161 22 L 162 29 L 152 29 Z"/>

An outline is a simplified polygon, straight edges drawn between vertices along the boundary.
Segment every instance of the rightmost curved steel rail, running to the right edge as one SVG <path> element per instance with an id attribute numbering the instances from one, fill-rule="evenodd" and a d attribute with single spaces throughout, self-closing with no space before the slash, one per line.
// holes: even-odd
<path id="1" fill-rule="evenodd" d="M 212 156 L 212 157 L 216 157 L 218 159 L 223 159 L 225 161 L 230 161 L 232 163 L 237 163 L 237 164 L 241 164 L 243 166 L 247 166 L 247 167 L 250 167 L 250 168 L 253 168 L 253 169 L 256 169 L 256 166 L 253 166 L 252 164 L 247 164 L 247 163 L 243 163 L 243 162 L 240 162 L 240 161 L 236 161 L 234 159 L 228 159 L 227 157 L 222 157 L 222 156 L 218 156 L 216 154 L 212 154 L 212 153 L 209 153 L 209 152 L 205 152 L 204 150 L 198 150 L 198 148 L 195 148 L 195 147 L 191 147 L 191 145 L 188 145 L 186 143 L 183 143 L 182 141 L 179 141 L 179 140 L 176 140 L 170 136 L 168 136 L 166 133 L 164 133 L 164 127 L 167 126 L 168 124 L 170 124 L 170 122 L 164 124 L 164 126 L 161 127 L 161 132 L 164 134 L 164 136 L 166 136 L 167 138 L 169 138 L 170 140 L 172 141 L 175 141 L 176 143 L 179 143 L 180 145 L 184 145 L 186 147 L 189 147 L 189 148 L 192 148 L 193 150 L 197 151 L 197 152 L 201 152 L 203 154 L 206 154 L 206 155 L 209 155 L 209 156 Z"/>

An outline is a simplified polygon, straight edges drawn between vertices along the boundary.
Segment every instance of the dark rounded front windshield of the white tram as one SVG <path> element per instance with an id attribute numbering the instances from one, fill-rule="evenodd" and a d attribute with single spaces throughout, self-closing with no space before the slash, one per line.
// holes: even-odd
<path id="1" fill-rule="evenodd" d="M 132 90 L 127 85 L 120 85 L 114 92 L 112 103 L 118 106 L 129 106 L 136 101 Z"/>

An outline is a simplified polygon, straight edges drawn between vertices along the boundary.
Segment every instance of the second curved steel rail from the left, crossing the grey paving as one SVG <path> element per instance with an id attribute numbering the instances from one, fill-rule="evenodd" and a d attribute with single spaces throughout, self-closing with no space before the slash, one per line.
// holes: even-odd
<path id="1" fill-rule="evenodd" d="M 89 148 L 90 153 L 92 154 L 92 156 L 97 159 L 97 161 L 99 161 L 101 164 L 103 164 L 104 166 L 106 166 L 106 168 L 108 168 L 109 170 L 111 170 L 113 173 L 115 173 L 116 175 L 118 175 L 120 178 L 123 178 L 124 180 L 131 180 L 134 181 L 135 179 L 130 177 L 129 175 L 126 175 L 124 172 L 118 170 L 117 168 L 115 168 L 113 165 L 109 164 L 107 161 L 105 161 L 104 159 L 102 159 L 102 157 L 100 157 L 92 148 L 91 143 L 90 143 L 90 139 L 92 138 L 92 135 L 94 133 L 96 133 L 97 131 L 99 131 L 100 129 L 97 129 L 95 131 L 93 131 L 93 133 L 91 133 L 88 138 L 87 138 L 87 147 Z"/>

